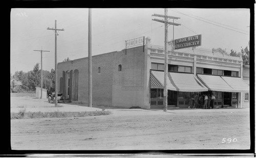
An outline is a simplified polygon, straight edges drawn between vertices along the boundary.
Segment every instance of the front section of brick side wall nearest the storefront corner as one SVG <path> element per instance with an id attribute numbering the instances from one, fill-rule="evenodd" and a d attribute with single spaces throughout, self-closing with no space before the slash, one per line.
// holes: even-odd
<path id="1" fill-rule="evenodd" d="M 126 53 L 126 54 L 125 54 Z M 146 50 L 136 47 L 120 51 L 113 64 L 113 106 L 148 108 Z M 147 57 L 147 56 L 146 56 Z M 118 71 L 118 65 L 122 71 Z M 149 91 L 149 90 L 148 90 Z"/>

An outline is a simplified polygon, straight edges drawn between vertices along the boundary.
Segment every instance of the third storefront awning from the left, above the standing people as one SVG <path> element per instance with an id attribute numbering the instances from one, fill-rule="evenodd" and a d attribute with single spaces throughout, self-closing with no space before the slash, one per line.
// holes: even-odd
<path id="1" fill-rule="evenodd" d="M 198 74 L 198 78 L 209 88 L 210 91 L 237 92 L 220 76 Z"/>

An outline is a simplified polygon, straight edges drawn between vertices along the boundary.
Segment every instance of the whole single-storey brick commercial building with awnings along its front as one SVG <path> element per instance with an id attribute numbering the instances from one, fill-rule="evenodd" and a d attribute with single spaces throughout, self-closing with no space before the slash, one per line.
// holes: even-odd
<path id="1" fill-rule="evenodd" d="M 145 40 L 144 46 L 92 56 L 93 106 L 163 107 L 164 47 Z M 242 106 L 239 98 L 249 86 L 241 79 L 241 57 L 220 48 L 169 50 L 169 108 L 187 108 L 193 93 L 207 92 L 216 96 L 215 107 Z M 60 62 L 57 73 L 59 93 L 87 104 L 88 58 Z"/>

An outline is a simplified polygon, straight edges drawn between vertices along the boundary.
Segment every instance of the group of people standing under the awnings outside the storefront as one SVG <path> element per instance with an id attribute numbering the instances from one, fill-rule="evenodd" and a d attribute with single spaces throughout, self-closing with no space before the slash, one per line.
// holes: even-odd
<path id="1" fill-rule="evenodd" d="M 214 108 L 215 102 L 214 94 L 198 94 L 193 93 L 188 108 L 203 108 L 203 109 L 210 109 Z"/>

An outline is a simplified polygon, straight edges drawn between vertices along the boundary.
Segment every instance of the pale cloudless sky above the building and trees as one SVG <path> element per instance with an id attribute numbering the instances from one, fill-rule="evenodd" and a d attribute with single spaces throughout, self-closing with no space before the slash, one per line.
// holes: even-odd
<path id="1" fill-rule="evenodd" d="M 93 8 L 92 56 L 121 51 L 125 40 L 145 36 L 151 44 L 164 46 L 164 24 L 152 20 L 153 14 L 164 15 L 163 8 Z M 202 35 L 201 47 L 241 52 L 250 39 L 249 9 L 168 8 L 174 22 L 174 38 Z M 13 8 L 10 13 L 10 71 L 28 72 L 36 63 L 50 71 L 55 64 L 57 20 L 57 61 L 88 57 L 88 8 Z M 169 21 L 173 21 L 170 19 Z M 173 26 L 168 27 L 168 40 L 173 39 Z"/>

